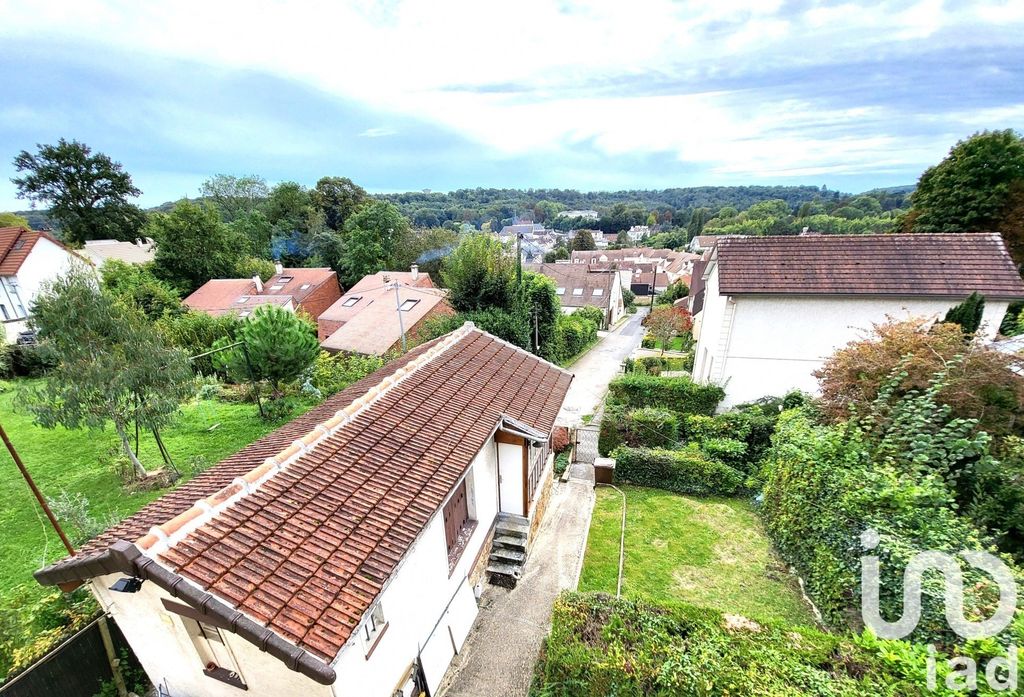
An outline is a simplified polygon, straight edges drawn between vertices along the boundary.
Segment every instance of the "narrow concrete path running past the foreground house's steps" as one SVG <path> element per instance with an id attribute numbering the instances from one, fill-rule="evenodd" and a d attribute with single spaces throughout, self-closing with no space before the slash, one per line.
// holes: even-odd
<path id="1" fill-rule="evenodd" d="M 594 509 L 594 468 L 573 465 L 567 482 L 555 481 L 551 503 L 512 591 L 485 585 L 480 613 L 455 657 L 441 689 L 444 697 L 524 697 L 551 608 L 564 589 L 575 589 Z"/>

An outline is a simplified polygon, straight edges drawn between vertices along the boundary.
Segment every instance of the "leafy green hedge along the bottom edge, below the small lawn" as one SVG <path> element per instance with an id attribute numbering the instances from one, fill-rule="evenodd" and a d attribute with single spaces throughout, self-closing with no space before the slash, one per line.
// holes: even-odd
<path id="1" fill-rule="evenodd" d="M 951 694 L 928 691 L 923 648 L 900 652 L 898 642 L 753 623 L 688 605 L 566 593 L 551 625 L 531 697 Z M 943 663 L 940 656 L 940 686 Z"/>

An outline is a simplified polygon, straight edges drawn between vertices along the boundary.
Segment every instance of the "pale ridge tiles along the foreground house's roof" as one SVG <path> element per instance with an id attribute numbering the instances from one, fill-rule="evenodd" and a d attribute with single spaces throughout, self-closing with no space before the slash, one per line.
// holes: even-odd
<path id="1" fill-rule="evenodd" d="M 143 554 L 151 558 L 156 558 L 169 551 L 174 544 L 187 537 L 189 533 L 214 520 L 219 514 L 239 503 L 245 496 L 258 490 L 276 474 L 283 472 L 304 454 L 331 438 L 341 428 L 354 421 L 373 404 L 376 404 L 384 395 L 390 393 L 399 383 L 403 382 L 421 367 L 429 364 L 453 346 L 459 344 L 473 331 L 486 334 L 477 330 L 473 322 L 465 322 L 458 330 L 452 332 L 422 354 L 416 356 L 404 366 L 382 378 L 379 383 L 371 386 L 362 396 L 353 399 L 348 406 L 336 411 L 332 418 L 326 422 L 316 424 L 304 436 L 296 438 L 284 450 L 270 455 L 262 464 L 244 475 L 236 477 L 220 490 L 197 500 L 190 508 L 170 520 L 160 525 L 154 525 L 150 528 L 148 533 L 135 541 L 135 544 L 142 550 Z M 518 349 L 518 347 L 516 348 Z"/>

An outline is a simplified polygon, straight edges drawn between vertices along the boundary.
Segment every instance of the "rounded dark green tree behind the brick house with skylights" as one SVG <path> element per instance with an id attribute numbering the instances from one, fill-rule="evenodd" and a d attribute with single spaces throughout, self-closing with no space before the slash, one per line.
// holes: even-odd
<path id="1" fill-rule="evenodd" d="M 345 222 L 341 250 L 341 273 L 345 286 L 353 286 L 370 273 L 390 268 L 397 256 L 397 243 L 409 233 L 409 220 L 392 204 L 374 201 Z"/>

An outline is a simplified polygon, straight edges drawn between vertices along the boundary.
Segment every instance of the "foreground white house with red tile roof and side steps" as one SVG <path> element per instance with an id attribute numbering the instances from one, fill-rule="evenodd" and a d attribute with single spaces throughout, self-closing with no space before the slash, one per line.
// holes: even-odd
<path id="1" fill-rule="evenodd" d="M 433 694 L 529 563 L 571 380 L 467 322 L 36 578 L 88 583 L 165 694 Z"/>

